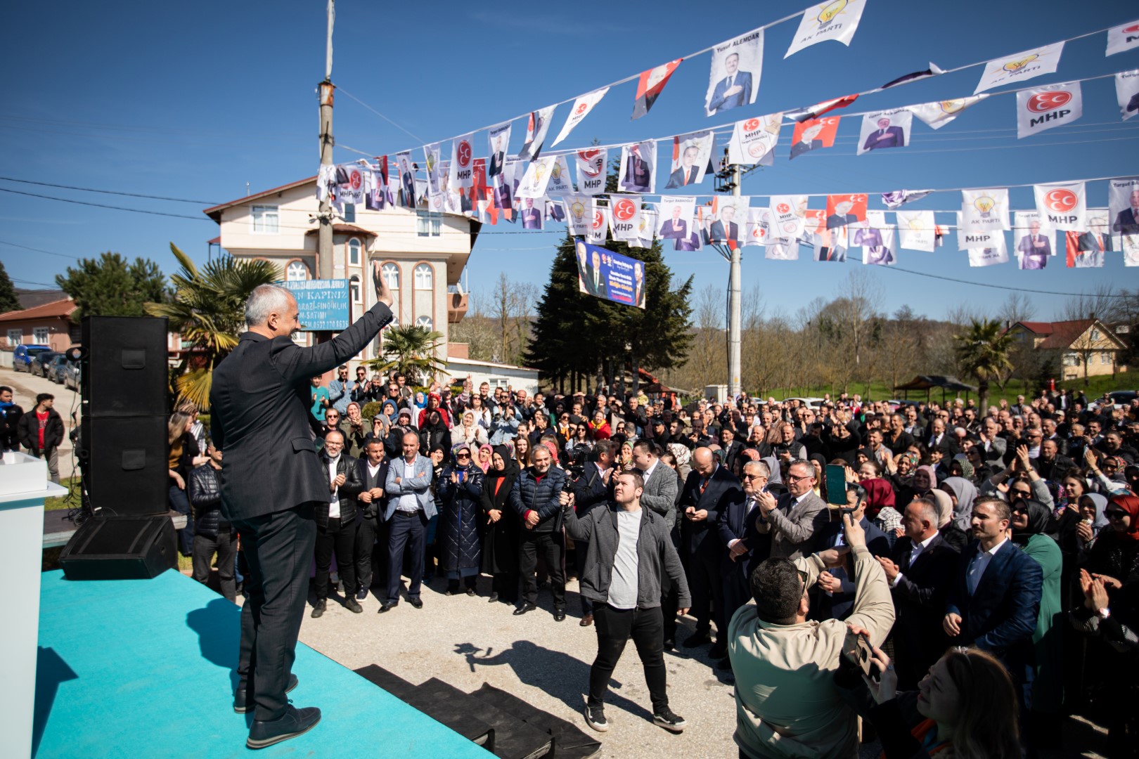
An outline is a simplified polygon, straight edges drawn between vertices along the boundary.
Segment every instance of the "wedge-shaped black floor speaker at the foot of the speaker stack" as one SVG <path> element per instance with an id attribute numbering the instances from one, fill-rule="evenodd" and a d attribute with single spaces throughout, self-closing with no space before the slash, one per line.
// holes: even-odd
<path id="1" fill-rule="evenodd" d="M 150 579 L 178 566 L 170 517 L 96 517 L 83 522 L 59 554 L 71 580 Z"/>

